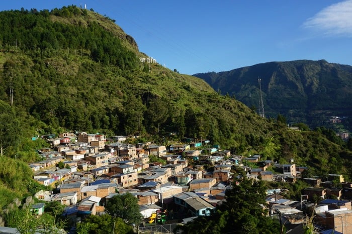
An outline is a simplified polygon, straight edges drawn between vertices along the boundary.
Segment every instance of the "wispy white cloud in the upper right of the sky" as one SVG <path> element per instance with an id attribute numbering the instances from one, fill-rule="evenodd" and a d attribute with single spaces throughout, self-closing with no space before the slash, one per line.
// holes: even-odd
<path id="1" fill-rule="evenodd" d="M 333 4 L 321 10 L 309 18 L 303 27 L 329 36 L 352 37 L 352 0 Z"/>

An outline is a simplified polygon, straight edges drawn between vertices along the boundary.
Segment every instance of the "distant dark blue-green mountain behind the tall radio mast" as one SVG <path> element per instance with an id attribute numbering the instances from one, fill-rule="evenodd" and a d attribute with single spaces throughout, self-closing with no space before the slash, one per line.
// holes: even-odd
<path id="1" fill-rule="evenodd" d="M 198 73 L 222 94 L 258 111 L 259 82 L 267 117 L 284 115 L 288 123 L 326 125 L 329 116 L 352 116 L 352 66 L 325 60 L 269 62 L 227 72 Z M 352 121 L 342 119 L 351 130 Z M 343 129 L 341 129 L 343 130 Z"/>

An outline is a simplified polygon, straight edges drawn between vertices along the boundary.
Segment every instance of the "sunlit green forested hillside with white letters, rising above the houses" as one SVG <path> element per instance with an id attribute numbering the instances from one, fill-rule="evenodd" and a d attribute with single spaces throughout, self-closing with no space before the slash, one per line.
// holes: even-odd
<path id="1" fill-rule="evenodd" d="M 25 163 L 47 145 L 31 137 L 63 131 L 138 133 L 139 141 L 164 145 L 209 139 L 233 154 L 258 153 L 283 163 L 295 158 L 321 174 L 352 178 L 351 153 L 329 130 L 293 131 L 283 121 L 261 118 L 137 48 L 112 19 L 75 6 L 0 13 L 3 207 L 38 189 Z M 168 138 L 168 132 L 177 135 Z"/>

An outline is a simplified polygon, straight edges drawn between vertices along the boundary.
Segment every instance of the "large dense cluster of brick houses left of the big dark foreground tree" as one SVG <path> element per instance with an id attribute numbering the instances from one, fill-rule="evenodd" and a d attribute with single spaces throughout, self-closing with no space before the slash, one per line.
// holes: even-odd
<path id="1" fill-rule="evenodd" d="M 218 145 L 202 151 L 201 142 L 166 148 L 150 142 L 127 144 L 125 136 L 107 139 L 85 132 L 42 137 L 51 147 L 39 149 L 42 160 L 30 167 L 35 180 L 57 187 L 59 193 L 40 191 L 35 196 L 67 205 L 65 215 L 74 218 L 104 213 L 104 204 L 125 192 L 138 198 L 145 218 L 160 209 L 169 210 L 169 218 L 174 219 L 208 215 L 225 196 L 231 165 L 241 160 L 230 156 L 230 151 L 220 151 Z M 150 162 L 151 155 L 165 163 Z M 205 170 L 202 163 L 191 166 L 189 160 L 214 170 Z M 59 163 L 64 168 L 58 168 Z"/>

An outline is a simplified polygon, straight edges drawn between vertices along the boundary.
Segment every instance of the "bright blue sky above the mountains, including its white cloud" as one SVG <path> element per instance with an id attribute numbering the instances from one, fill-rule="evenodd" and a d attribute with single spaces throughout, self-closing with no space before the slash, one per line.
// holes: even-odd
<path id="1" fill-rule="evenodd" d="M 31 0 L 0 10 L 68 5 L 116 20 L 141 52 L 184 74 L 300 59 L 352 65 L 352 0 Z"/>

